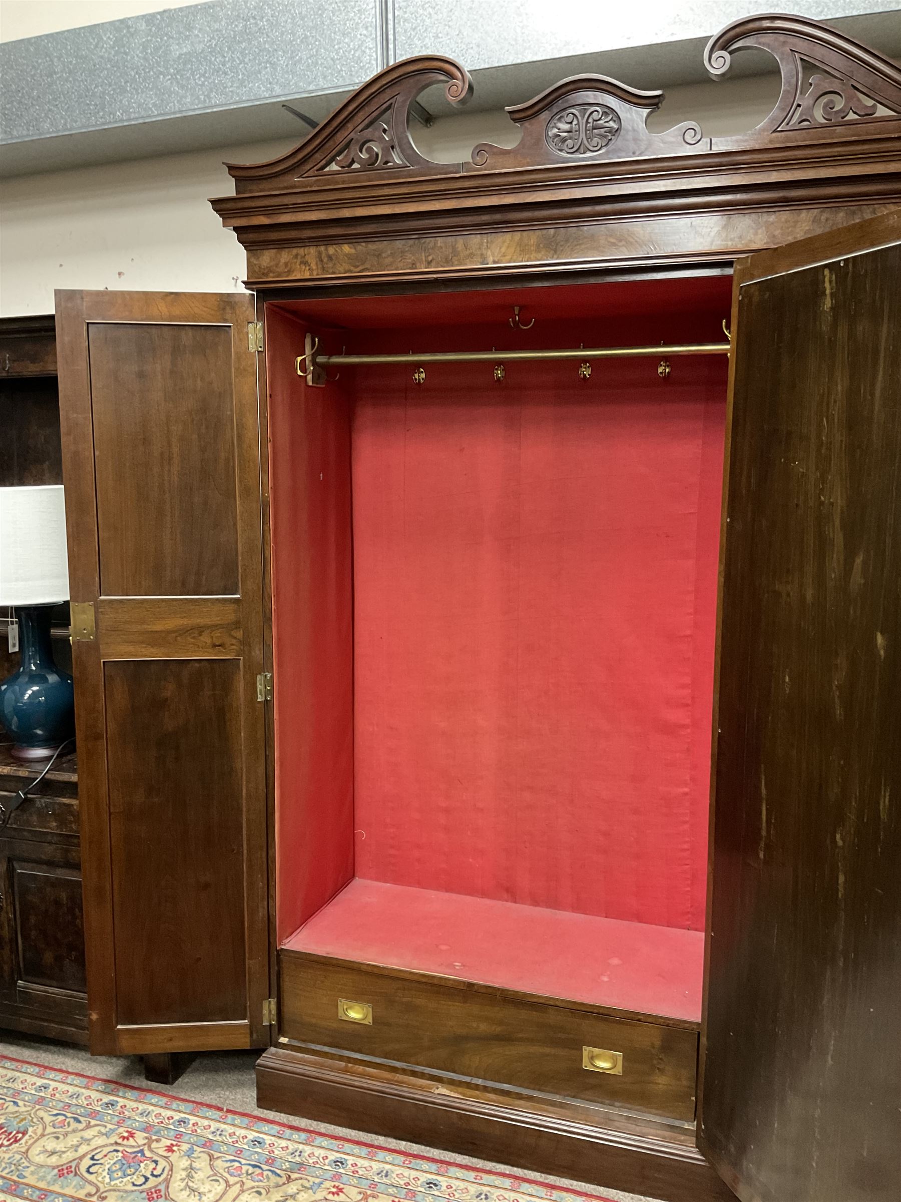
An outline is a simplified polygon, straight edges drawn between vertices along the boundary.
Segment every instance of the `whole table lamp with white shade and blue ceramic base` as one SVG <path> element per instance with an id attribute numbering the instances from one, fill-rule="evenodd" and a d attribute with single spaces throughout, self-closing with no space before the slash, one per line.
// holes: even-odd
<path id="1" fill-rule="evenodd" d="M 0 606 L 12 606 L 22 666 L 0 684 L 18 760 L 46 760 L 74 731 L 72 677 L 53 662 L 50 609 L 68 600 L 62 484 L 0 488 Z"/>

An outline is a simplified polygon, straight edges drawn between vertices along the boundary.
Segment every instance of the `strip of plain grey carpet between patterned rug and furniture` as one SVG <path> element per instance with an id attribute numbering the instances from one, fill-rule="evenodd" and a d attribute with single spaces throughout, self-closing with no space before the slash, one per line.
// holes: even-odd
<path id="1" fill-rule="evenodd" d="M 154 1087 L 144 1081 L 142 1061 L 137 1057 L 93 1057 L 84 1048 L 73 1047 L 67 1043 L 54 1043 L 49 1040 L 36 1039 L 30 1035 L 18 1035 L 13 1031 L 0 1031 L 0 1054 L 17 1058 L 19 1060 L 32 1060 L 36 1064 L 46 1064 L 52 1069 L 61 1069 L 70 1072 L 85 1072 L 93 1077 L 106 1077 L 108 1081 L 120 1081 L 125 1085 L 133 1085 L 137 1089 L 159 1088 L 163 1093 L 173 1094 L 177 1097 L 189 1097 L 196 1102 L 210 1102 L 214 1106 L 222 1106 L 226 1109 L 244 1111 L 246 1114 L 258 1114 L 261 1118 L 278 1121 L 280 1115 L 272 1111 L 261 1111 L 256 1106 L 256 1087 L 253 1079 L 253 1065 L 258 1052 L 202 1052 L 189 1066 L 174 1085 Z M 336 1135 L 345 1138 L 370 1138 L 360 1136 L 358 1131 L 350 1131 L 345 1127 L 333 1127 L 324 1123 L 312 1123 L 309 1119 L 292 1120 L 285 1117 L 286 1123 L 303 1123 L 304 1126 L 328 1135 Z M 375 1137 L 374 1137 L 375 1138 Z M 376 1142 L 400 1152 L 425 1153 L 440 1156 L 442 1160 L 458 1160 L 465 1165 L 479 1165 L 483 1168 L 503 1172 L 503 1165 L 491 1165 L 488 1161 L 473 1160 L 471 1156 L 454 1156 L 450 1152 L 436 1152 L 432 1148 L 423 1148 L 418 1144 L 404 1143 L 399 1139 L 387 1139 L 382 1136 Z M 507 1166 L 508 1167 L 508 1166 Z M 567 1182 L 559 1177 L 545 1177 L 542 1173 L 525 1173 L 536 1180 L 548 1182 L 551 1185 L 560 1185 L 563 1189 L 577 1189 L 583 1192 L 597 1192 L 599 1197 L 609 1198 L 610 1202 L 654 1202 L 652 1198 L 642 1198 L 634 1194 L 620 1194 L 616 1190 L 592 1190 L 591 1186 L 580 1185 L 578 1182 Z"/>

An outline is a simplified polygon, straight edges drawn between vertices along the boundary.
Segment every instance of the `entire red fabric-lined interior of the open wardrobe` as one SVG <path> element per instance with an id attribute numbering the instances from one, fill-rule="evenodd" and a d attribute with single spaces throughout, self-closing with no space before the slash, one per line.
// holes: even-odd
<path id="1" fill-rule="evenodd" d="M 267 305 L 280 945 L 699 1020 L 729 297 Z"/>

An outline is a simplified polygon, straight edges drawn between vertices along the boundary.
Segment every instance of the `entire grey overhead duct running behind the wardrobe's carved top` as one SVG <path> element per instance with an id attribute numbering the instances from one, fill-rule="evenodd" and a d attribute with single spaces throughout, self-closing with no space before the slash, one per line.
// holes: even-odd
<path id="1" fill-rule="evenodd" d="M 750 0 L 211 0 L 0 44 L 0 169 L 58 171 L 238 142 L 300 141 L 380 66 L 418 53 L 473 75 L 470 109 L 529 100 L 568 75 L 636 88 L 705 79 L 706 40 Z M 795 12 L 901 59 L 901 10 L 793 0 Z M 879 11 L 881 10 L 881 11 Z M 736 55 L 735 75 L 772 70 Z M 440 89 L 423 97 L 435 115 Z"/>

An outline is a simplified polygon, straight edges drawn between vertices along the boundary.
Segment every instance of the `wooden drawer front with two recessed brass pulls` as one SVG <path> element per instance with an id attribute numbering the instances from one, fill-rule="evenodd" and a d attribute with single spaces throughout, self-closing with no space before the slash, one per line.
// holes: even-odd
<path id="1" fill-rule="evenodd" d="M 438 978 L 370 972 L 287 950 L 280 952 L 280 1031 L 291 1040 L 694 1118 L 694 1031 L 500 998 Z M 341 998 L 371 1005 L 371 1025 L 341 1019 Z M 622 1075 L 584 1069 L 583 1047 L 620 1052 Z"/>

